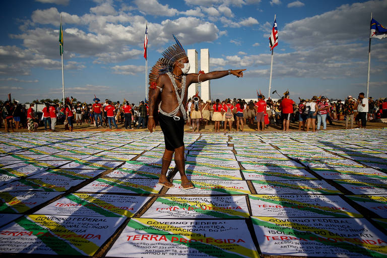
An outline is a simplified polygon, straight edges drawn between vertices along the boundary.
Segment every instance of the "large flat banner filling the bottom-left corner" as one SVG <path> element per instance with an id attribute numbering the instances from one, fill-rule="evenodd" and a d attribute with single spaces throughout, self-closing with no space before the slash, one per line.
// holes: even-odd
<path id="1" fill-rule="evenodd" d="M 26 215 L 0 228 L 0 252 L 91 256 L 124 220 Z"/>

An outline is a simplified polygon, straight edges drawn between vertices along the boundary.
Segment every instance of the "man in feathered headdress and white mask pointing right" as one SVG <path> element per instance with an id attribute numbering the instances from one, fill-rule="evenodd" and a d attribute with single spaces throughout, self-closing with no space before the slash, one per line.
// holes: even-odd
<path id="1" fill-rule="evenodd" d="M 192 83 L 199 83 L 211 79 L 218 79 L 227 75 L 242 77 L 243 70 L 215 71 L 208 74 L 187 74 L 189 71 L 188 57 L 175 38 L 176 44 L 168 47 L 152 68 L 149 75 L 150 105 L 148 130 L 152 133 L 155 119 L 158 118 L 164 134 L 165 151 L 163 155 L 159 184 L 168 188 L 174 185 L 168 181 L 166 173 L 175 153 L 176 168 L 180 172 L 181 186 L 184 189 L 194 188 L 185 175 L 184 163 L 184 120 L 186 117 L 186 100 L 188 87 Z M 158 111 L 157 111 L 158 108 Z"/>

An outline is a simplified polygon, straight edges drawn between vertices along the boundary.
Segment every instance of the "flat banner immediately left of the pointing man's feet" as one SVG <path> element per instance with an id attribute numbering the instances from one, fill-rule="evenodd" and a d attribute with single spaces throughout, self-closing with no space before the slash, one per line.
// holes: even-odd
<path id="1" fill-rule="evenodd" d="M 98 178 L 78 191 L 117 193 L 159 193 L 158 179 Z"/>

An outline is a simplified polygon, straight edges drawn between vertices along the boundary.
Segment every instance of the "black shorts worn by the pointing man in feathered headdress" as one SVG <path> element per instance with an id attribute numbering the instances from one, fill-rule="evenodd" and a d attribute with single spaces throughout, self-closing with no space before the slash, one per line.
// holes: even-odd
<path id="1" fill-rule="evenodd" d="M 173 117 L 161 113 L 158 116 L 159 124 L 164 134 L 165 149 L 174 151 L 184 146 L 184 118 L 180 117 L 180 120 L 175 120 Z"/>

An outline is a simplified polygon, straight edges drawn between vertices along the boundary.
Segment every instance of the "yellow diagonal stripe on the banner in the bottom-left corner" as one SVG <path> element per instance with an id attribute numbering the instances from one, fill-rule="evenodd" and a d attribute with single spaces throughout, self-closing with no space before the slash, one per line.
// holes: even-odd
<path id="1" fill-rule="evenodd" d="M 82 238 L 81 235 L 67 229 L 66 227 L 63 227 L 59 223 L 51 220 L 46 215 L 28 215 L 28 218 L 31 219 L 33 222 L 40 224 L 41 226 L 46 227 L 50 230 L 55 229 L 55 231 L 61 232 L 60 234 L 57 234 L 52 231 L 55 236 L 61 239 L 66 239 L 71 244 L 73 244 L 73 247 L 84 251 L 87 255 L 93 255 L 95 251 L 99 249 L 99 246 L 95 243 L 87 240 L 86 238 Z"/>

